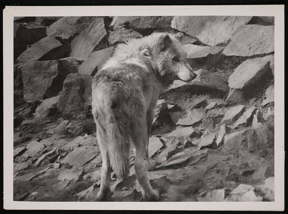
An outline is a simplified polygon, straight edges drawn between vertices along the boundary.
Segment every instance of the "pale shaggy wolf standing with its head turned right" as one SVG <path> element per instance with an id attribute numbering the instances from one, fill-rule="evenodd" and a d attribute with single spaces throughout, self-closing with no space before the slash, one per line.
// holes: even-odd
<path id="1" fill-rule="evenodd" d="M 197 75 L 187 63 L 183 33 L 153 33 L 118 44 L 94 76 L 92 114 L 102 155 L 101 185 L 96 201 L 111 200 L 111 166 L 118 178 L 129 176 L 130 143 L 136 150 L 135 174 L 142 201 L 160 194 L 147 178 L 155 170 L 148 144 L 158 97 L 174 80 L 189 82 Z"/>

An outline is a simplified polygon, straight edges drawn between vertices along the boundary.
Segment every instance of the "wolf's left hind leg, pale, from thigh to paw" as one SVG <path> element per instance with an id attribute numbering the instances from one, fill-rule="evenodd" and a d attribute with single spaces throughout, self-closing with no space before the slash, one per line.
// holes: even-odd
<path id="1" fill-rule="evenodd" d="M 101 168 L 101 184 L 100 190 L 97 194 L 96 201 L 110 201 L 111 200 L 111 167 L 108 156 L 108 145 L 106 133 L 101 129 L 101 125 L 97 124 L 97 140 L 99 143 L 102 155 L 102 168 Z"/>

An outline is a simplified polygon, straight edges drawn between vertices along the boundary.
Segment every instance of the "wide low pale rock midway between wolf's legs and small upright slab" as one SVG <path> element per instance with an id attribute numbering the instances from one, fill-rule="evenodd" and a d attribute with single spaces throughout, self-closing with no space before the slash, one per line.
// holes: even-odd
<path id="1" fill-rule="evenodd" d="M 185 141 L 189 137 L 196 137 L 200 135 L 200 131 L 192 127 L 179 127 L 178 129 L 168 133 L 165 137 L 176 138 L 180 141 Z"/>

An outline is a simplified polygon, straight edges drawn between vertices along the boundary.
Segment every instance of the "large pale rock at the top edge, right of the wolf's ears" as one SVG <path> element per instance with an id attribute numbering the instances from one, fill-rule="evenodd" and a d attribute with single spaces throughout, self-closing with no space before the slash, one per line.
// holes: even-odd
<path id="1" fill-rule="evenodd" d="M 171 27 L 198 38 L 207 45 L 226 42 L 251 16 L 175 16 Z"/>

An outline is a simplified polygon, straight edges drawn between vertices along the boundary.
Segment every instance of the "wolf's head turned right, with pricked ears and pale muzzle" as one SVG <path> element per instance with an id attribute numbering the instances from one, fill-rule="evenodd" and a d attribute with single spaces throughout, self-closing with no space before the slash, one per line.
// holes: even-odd
<path id="1" fill-rule="evenodd" d="M 164 84 L 170 85 L 177 79 L 190 82 L 197 76 L 187 63 L 187 51 L 182 40 L 183 33 L 161 34 L 154 48 L 154 60 Z"/>

